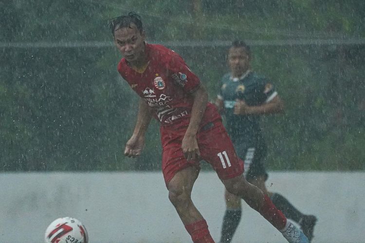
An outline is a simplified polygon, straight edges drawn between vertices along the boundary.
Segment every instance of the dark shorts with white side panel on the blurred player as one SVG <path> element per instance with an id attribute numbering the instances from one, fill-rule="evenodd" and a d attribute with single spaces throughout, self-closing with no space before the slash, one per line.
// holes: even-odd
<path id="1" fill-rule="evenodd" d="M 269 177 L 264 163 L 267 155 L 266 144 L 264 142 L 257 142 L 256 144 L 236 142 L 235 149 L 237 155 L 244 160 L 246 180 L 252 181 L 256 177 L 264 176 L 266 181 Z"/>

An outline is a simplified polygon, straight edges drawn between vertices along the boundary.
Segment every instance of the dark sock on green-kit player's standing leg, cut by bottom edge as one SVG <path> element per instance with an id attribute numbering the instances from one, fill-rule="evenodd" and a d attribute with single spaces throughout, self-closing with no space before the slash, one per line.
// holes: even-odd
<path id="1" fill-rule="evenodd" d="M 226 210 L 223 217 L 222 231 L 220 236 L 221 243 L 230 243 L 236 232 L 239 221 L 241 220 L 242 211 Z"/>

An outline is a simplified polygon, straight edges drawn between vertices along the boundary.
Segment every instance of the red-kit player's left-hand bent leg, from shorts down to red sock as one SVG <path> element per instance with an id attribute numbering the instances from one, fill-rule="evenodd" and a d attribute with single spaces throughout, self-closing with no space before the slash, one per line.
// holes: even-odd
<path id="1" fill-rule="evenodd" d="M 214 243 L 206 221 L 191 200 L 191 191 L 198 174 L 199 169 L 194 166 L 176 172 L 167 183 L 168 198 L 194 243 Z"/>

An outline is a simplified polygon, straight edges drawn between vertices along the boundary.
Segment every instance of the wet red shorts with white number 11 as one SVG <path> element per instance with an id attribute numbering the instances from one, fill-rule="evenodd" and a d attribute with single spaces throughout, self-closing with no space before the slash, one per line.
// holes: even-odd
<path id="1" fill-rule="evenodd" d="M 204 125 L 197 134 L 201 158 L 187 161 L 181 148 L 186 127 L 161 127 L 163 147 L 162 171 L 167 183 L 176 172 L 189 166 L 200 166 L 203 159 L 212 165 L 220 179 L 234 178 L 243 173 L 243 161 L 236 155 L 231 139 L 220 120 Z"/>

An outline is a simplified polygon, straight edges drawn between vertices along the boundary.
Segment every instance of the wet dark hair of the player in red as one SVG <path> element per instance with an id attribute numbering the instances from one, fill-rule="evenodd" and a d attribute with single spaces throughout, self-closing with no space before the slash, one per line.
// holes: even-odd
<path id="1" fill-rule="evenodd" d="M 135 24 L 140 33 L 143 32 L 141 16 L 135 12 L 129 12 L 128 15 L 121 15 L 110 19 L 109 28 L 111 30 L 111 34 L 114 35 L 114 32 L 121 28 L 131 28 L 130 24 L 132 23 Z"/>

